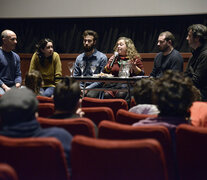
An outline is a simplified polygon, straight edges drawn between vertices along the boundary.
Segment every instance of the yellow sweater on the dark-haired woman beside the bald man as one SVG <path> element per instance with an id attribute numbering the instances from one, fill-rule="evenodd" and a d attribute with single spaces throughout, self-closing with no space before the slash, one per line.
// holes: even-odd
<path id="1" fill-rule="evenodd" d="M 46 58 L 44 61 L 44 66 L 42 66 L 39 62 L 39 57 L 35 52 L 30 62 L 29 72 L 31 70 L 37 70 L 42 74 L 44 81 L 43 87 L 55 87 L 55 85 L 60 81 L 55 80 L 55 77 L 62 76 L 62 64 L 59 54 L 54 52 L 52 56 L 52 62 L 50 63 Z"/>

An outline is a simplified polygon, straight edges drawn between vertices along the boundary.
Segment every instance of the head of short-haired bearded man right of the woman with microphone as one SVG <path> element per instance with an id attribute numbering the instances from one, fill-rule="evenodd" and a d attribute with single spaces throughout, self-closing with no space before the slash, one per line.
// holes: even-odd
<path id="1" fill-rule="evenodd" d="M 174 43 L 174 35 L 169 31 L 164 31 L 158 37 L 157 46 L 161 52 L 166 52 L 174 46 Z"/>

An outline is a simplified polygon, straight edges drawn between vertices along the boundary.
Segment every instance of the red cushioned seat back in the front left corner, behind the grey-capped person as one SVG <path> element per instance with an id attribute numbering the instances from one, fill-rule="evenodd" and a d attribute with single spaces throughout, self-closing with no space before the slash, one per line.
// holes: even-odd
<path id="1" fill-rule="evenodd" d="M 11 165 L 19 180 L 69 180 L 64 150 L 56 138 L 0 136 L 0 162 Z"/>

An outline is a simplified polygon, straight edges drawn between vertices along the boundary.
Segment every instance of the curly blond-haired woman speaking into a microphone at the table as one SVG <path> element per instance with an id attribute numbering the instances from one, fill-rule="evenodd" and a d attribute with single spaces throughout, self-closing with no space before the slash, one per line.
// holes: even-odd
<path id="1" fill-rule="evenodd" d="M 129 75 L 138 76 L 144 75 L 144 66 L 141 61 L 141 57 L 137 52 L 133 41 L 127 37 L 120 37 L 114 47 L 114 55 L 109 59 L 107 65 L 104 68 L 104 72 L 112 74 L 115 77 L 120 75 L 120 67 L 122 64 L 128 64 Z M 117 52 L 117 53 L 116 53 Z M 118 55 L 116 55 L 118 54 Z M 106 87 L 113 88 L 126 88 L 126 84 L 112 83 L 110 85 L 105 85 Z M 121 91 L 105 91 L 104 98 L 127 98 L 127 92 Z"/>

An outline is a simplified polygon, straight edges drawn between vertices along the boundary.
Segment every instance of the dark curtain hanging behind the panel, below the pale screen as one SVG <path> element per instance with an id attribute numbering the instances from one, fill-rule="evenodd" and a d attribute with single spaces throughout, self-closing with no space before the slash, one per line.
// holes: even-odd
<path id="1" fill-rule="evenodd" d="M 82 52 L 82 33 L 95 30 L 99 35 L 97 49 L 112 53 L 120 36 L 131 38 L 140 53 L 157 52 L 156 43 L 162 31 L 171 31 L 176 38 L 176 49 L 189 52 L 187 27 L 207 24 L 207 14 L 186 16 L 119 17 L 119 18 L 64 18 L 64 19 L 0 19 L 0 31 L 13 30 L 18 36 L 18 53 L 33 53 L 42 38 L 54 41 L 58 53 Z"/>

